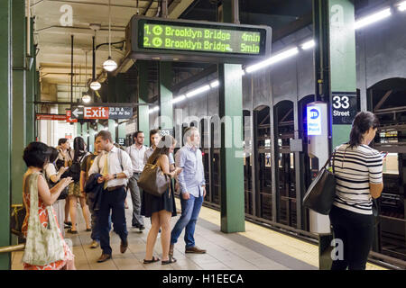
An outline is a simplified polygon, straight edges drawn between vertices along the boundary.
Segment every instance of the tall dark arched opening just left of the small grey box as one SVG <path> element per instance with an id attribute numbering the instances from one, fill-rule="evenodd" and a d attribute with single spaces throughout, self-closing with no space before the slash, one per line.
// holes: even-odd
<path id="1" fill-rule="evenodd" d="M 282 101 L 274 106 L 275 154 L 277 159 L 276 190 L 279 201 L 279 222 L 291 227 L 297 226 L 296 175 L 294 153 L 290 140 L 294 139 L 293 103 Z"/>

